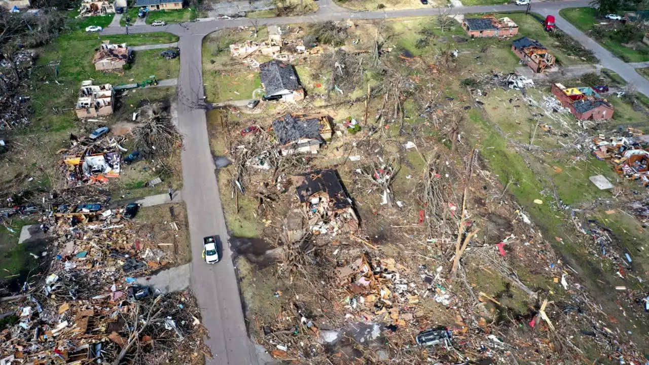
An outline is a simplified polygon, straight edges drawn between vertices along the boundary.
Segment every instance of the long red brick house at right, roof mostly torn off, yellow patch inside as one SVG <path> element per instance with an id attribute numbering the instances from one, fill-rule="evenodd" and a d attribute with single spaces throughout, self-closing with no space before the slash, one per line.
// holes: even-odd
<path id="1" fill-rule="evenodd" d="M 563 107 L 569 108 L 578 120 L 609 120 L 613 118 L 613 105 L 593 88 L 566 88 L 562 84 L 552 85 L 552 94 Z"/>

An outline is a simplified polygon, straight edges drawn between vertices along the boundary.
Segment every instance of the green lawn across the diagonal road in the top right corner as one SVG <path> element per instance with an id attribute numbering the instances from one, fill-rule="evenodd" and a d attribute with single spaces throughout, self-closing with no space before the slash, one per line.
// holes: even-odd
<path id="1" fill-rule="evenodd" d="M 621 12 L 620 12 L 621 14 Z M 566 8 L 559 11 L 559 15 L 570 21 L 572 25 L 586 32 L 591 38 L 596 40 L 600 45 L 611 51 L 613 55 L 624 60 L 624 62 L 644 62 L 649 61 L 649 47 L 641 43 L 642 34 L 637 33 L 634 39 L 628 36 L 616 36 L 615 32 L 606 32 L 604 36 L 594 36 L 594 26 L 600 21 L 611 21 L 606 18 L 598 18 L 597 10 L 585 8 Z M 625 44 L 633 43 L 633 48 Z"/>

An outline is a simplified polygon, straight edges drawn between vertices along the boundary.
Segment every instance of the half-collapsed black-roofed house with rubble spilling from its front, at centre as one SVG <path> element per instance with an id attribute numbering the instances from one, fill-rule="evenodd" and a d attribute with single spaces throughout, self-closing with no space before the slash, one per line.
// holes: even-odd
<path id="1" fill-rule="evenodd" d="M 317 170 L 291 176 L 300 199 L 302 214 L 289 214 L 289 238 L 299 238 L 305 225 L 313 234 L 351 233 L 358 229 L 358 217 L 336 170 Z M 292 216 L 292 218 L 291 218 Z"/>

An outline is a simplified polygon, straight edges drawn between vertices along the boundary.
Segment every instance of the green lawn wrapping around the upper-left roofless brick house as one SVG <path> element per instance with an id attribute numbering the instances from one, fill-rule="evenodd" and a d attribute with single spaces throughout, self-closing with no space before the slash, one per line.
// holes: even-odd
<path id="1" fill-rule="evenodd" d="M 60 36 L 52 44 L 43 47 L 36 62 L 38 67 L 32 75 L 32 129 L 40 130 L 45 127 L 49 131 L 62 131 L 73 126 L 77 117 L 71 108 L 83 80 L 122 84 L 143 81 L 149 75 L 156 75 L 159 79 L 166 79 L 167 73 L 170 73 L 171 77 L 178 75 L 180 60 L 164 60 L 158 56 L 160 50 L 137 52 L 132 69 L 123 71 L 123 74 L 95 71 L 92 64 L 94 49 L 99 47 L 103 40 L 142 45 L 175 42 L 178 37 L 169 33 L 98 36 L 79 31 Z M 60 64 L 55 66 L 58 62 Z"/>

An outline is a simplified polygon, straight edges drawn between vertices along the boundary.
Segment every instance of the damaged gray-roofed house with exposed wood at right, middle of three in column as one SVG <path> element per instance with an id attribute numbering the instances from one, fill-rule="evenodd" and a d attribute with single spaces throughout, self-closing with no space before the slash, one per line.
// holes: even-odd
<path id="1" fill-rule="evenodd" d="M 286 114 L 273 121 L 273 131 L 282 145 L 282 155 L 317 153 L 332 137 L 330 116 L 326 114 Z"/>

